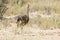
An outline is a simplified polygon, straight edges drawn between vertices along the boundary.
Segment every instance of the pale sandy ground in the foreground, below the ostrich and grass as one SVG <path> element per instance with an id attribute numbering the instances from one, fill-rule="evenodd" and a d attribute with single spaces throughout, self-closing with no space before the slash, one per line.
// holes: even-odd
<path id="1" fill-rule="evenodd" d="M 41 30 L 38 27 L 27 27 L 16 31 L 16 25 L 0 30 L 0 40 L 60 40 L 60 29 Z"/>

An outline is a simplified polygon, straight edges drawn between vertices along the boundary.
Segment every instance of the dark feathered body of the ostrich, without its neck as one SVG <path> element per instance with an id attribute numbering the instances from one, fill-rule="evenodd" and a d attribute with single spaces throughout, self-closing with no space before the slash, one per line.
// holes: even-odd
<path id="1" fill-rule="evenodd" d="M 28 21 L 29 21 L 29 17 L 27 15 L 18 16 L 17 27 L 26 25 Z"/>

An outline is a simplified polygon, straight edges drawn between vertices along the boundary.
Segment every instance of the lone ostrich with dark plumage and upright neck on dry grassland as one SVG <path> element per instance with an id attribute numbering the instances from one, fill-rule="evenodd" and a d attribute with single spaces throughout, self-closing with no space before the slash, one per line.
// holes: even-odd
<path id="1" fill-rule="evenodd" d="M 21 27 L 21 31 L 23 29 L 23 26 L 26 25 L 29 21 L 29 4 L 27 6 L 27 13 L 25 15 L 19 15 L 17 17 L 17 27 Z"/>

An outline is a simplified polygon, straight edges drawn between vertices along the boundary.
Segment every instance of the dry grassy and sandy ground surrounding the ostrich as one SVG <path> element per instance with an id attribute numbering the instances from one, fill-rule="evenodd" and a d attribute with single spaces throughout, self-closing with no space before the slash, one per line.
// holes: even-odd
<path id="1" fill-rule="evenodd" d="M 60 0 L 24 0 L 22 5 L 16 1 L 5 4 L 8 9 L 3 16 L 8 19 L 0 20 L 0 40 L 60 40 Z M 28 3 L 30 20 L 21 33 L 16 20 L 9 17 L 25 14 Z"/>

